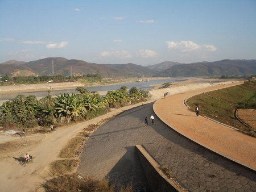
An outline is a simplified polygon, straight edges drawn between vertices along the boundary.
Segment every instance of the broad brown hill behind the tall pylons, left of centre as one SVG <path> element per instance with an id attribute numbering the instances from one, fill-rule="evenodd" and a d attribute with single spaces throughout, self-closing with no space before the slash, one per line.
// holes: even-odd
<path id="1" fill-rule="evenodd" d="M 26 64 L 23 64 L 23 66 L 27 66 L 28 68 L 34 70 L 40 76 L 49 76 L 52 74 L 52 61 L 55 75 L 61 74 L 63 76 L 70 76 L 70 73 L 72 71 L 72 75 L 75 76 L 82 76 L 83 74 L 88 73 L 99 73 L 102 77 L 137 76 L 137 74 L 135 73 L 127 72 L 126 70 L 114 68 L 112 66 L 94 64 L 75 59 L 67 60 L 63 57 L 49 57 L 46 59 L 30 61 Z"/>

